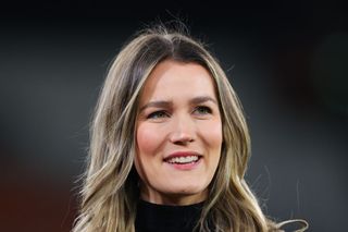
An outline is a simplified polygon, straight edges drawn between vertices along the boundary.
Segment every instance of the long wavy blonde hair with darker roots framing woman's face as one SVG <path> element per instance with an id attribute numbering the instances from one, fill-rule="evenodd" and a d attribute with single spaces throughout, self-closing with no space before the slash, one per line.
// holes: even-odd
<path id="1" fill-rule="evenodd" d="M 159 25 L 138 33 L 109 69 L 90 126 L 88 168 L 73 232 L 135 231 L 139 198 L 134 168 L 138 98 L 150 72 L 165 59 L 204 66 L 217 90 L 222 155 L 197 229 L 209 231 L 212 223 L 216 231 L 278 231 L 282 224 L 263 215 L 244 179 L 250 137 L 241 105 L 224 71 L 183 27 L 171 30 Z"/>

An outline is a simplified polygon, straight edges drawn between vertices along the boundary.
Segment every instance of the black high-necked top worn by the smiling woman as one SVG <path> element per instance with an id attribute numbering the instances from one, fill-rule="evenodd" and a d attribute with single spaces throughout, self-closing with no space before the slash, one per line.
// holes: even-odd
<path id="1" fill-rule="evenodd" d="M 140 200 L 135 220 L 136 232 L 192 232 L 203 203 L 189 206 L 157 205 Z"/>

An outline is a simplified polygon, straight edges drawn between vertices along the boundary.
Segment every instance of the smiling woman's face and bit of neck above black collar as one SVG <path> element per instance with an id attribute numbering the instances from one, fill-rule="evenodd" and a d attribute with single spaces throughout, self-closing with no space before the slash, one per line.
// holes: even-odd
<path id="1" fill-rule="evenodd" d="M 222 146 L 210 73 L 196 63 L 159 63 L 140 95 L 136 139 L 142 199 L 166 205 L 204 200 Z"/>

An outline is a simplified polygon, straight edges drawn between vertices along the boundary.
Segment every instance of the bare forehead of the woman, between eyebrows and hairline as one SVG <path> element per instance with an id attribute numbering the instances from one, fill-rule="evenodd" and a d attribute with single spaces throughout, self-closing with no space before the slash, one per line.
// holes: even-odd
<path id="1" fill-rule="evenodd" d="M 216 99 L 214 86 L 212 75 L 202 65 L 165 60 L 160 62 L 148 76 L 140 95 L 140 102 L 197 96 L 210 96 Z"/>

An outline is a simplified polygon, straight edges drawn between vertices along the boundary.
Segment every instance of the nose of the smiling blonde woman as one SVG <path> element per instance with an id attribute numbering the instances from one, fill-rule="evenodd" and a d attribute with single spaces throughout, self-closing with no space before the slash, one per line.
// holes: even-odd
<path id="1" fill-rule="evenodd" d="M 189 117 L 183 115 L 173 119 L 170 141 L 177 145 L 186 145 L 195 141 L 195 124 Z"/>

